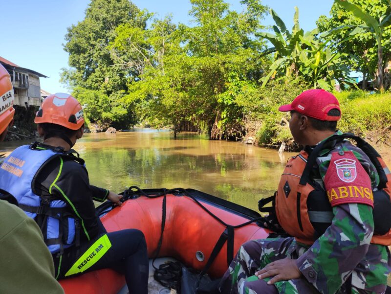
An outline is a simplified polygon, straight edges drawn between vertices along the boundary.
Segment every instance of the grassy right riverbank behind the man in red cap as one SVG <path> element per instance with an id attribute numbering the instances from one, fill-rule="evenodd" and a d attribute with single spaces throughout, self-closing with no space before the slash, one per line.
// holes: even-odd
<path id="1" fill-rule="evenodd" d="M 293 143 L 289 131 L 290 114 L 278 111 L 280 105 L 292 101 L 292 98 L 287 97 L 282 90 L 282 95 L 278 99 L 276 94 L 270 94 L 276 98 L 265 96 L 262 99 L 262 107 L 254 108 L 247 124 L 255 127 L 248 128 L 249 132 L 244 140 L 248 136 L 253 136 L 256 144 L 270 145 L 272 148 L 278 148 L 284 142 L 285 150 L 297 151 L 300 147 Z M 294 96 L 294 93 L 290 94 Z M 340 102 L 342 111 L 342 118 L 338 122 L 339 130 L 364 137 L 377 149 L 387 150 L 391 146 L 391 93 L 342 91 L 334 94 Z M 388 150 L 385 152 L 390 154 Z"/>

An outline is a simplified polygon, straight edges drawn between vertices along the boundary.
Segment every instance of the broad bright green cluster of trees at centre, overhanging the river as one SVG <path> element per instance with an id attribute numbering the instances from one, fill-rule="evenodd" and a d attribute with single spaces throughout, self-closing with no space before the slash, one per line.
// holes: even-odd
<path id="1" fill-rule="evenodd" d="M 252 37 L 266 9 L 259 0 L 242 1 L 241 13 L 223 0 L 191 2 L 192 27 L 176 27 L 170 18 L 155 20 L 148 30 L 118 27 L 112 52 L 126 57 L 125 67 L 142 68 L 137 79 L 128 78 L 125 99 L 138 101 L 152 125 L 171 124 L 174 132 L 190 125 L 212 138 L 240 136 L 243 113 L 235 100 L 242 89 L 258 85 L 267 63 L 260 56 L 263 42 Z"/>

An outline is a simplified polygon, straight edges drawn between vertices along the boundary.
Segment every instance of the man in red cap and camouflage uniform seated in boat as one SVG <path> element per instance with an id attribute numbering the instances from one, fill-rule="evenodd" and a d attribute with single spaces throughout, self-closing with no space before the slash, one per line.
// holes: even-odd
<path id="1" fill-rule="evenodd" d="M 311 149 L 310 146 L 331 135 L 342 134 L 335 131 L 341 116 L 339 103 L 324 90 L 304 91 L 279 110 L 291 111 L 292 136 L 306 148 Z M 344 140 L 331 150 L 322 150 L 312 177 L 327 191 L 333 214 L 331 225 L 312 245 L 302 244 L 294 237 L 246 242 L 220 282 L 221 293 L 381 294 L 386 291 L 390 251 L 387 246 L 370 243 L 374 229 L 373 197 L 362 201 L 349 197 L 344 202 L 340 195 L 338 202 L 338 197 L 333 195 L 338 188 L 348 188 L 348 180 L 336 168 L 337 156 L 344 154 L 359 161 L 354 166 L 353 183 L 359 181 L 366 189 L 376 189 L 379 183 L 376 168 L 361 149 Z"/>

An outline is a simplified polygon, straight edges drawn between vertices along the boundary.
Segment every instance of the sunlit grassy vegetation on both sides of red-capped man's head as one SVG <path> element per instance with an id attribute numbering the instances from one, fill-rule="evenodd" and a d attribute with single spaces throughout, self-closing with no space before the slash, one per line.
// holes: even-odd
<path id="1" fill-rule="evenodd" d="M 257 132 L 260 144 L 280 144 L 292 140 L 289 128 L 282 122 L 282 118 L 289 120 L 289 114 L 278 112 L 278 107 L 290 103 L 304 88 L 300 82 L 289 82 L 275 85 L 273 91 L 261 94 L 261 107 L 252 114 L 252 119 L 261 121 L 261 128 Z M 358 136 L 371 136 L 375 141 L 387 132 L 391 125 L 391 93 L 370 94 L 354 90 L 334 94 L 342 111 L 338 129 Z"/>

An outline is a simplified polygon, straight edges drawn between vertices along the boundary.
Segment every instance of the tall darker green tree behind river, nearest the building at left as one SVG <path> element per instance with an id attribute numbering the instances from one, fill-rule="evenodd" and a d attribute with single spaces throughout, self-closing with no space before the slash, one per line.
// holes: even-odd
<path id="1" fill-rule="evenodd" d="M 81 93 L 81 89 L 86 90 L 88 95 L 91 91 L 99 92 L 95 102 L 89 101 L 89 107 L 94 103 L 94 107 L 98 107 L 100 95 L 106 95 L 115 113 L 110 119 L 94 116 L 92 120 L 106 121 L 117 127 L 134 123 L 131 107 L 126 107 L 126 112 L 119 111 L 116 107 L 119 105 L 118 99 L 128 90 L 128 76 L 137 76 L 139 72 L 133 68 L 124 70 L 112 58 L 108 45 L 115 38 L 118 25 L 127 23 L 144 29 L 148 17 L 146 12 L 140 11 L 129 0 L 92 0 L 85 19 L 68 28 L 64 49 L 69 53 L 70 68 L 63 69 L 62 81 L 71 89 L 77 88 L 75 95 Z"/>

